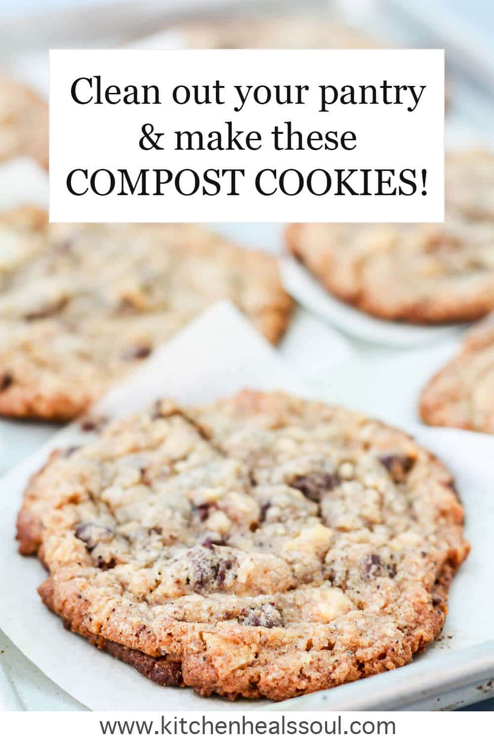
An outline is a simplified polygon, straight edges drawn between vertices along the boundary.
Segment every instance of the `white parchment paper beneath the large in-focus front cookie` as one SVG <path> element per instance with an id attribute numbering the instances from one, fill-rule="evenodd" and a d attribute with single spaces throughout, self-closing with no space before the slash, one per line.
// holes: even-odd
<path id="1" fill-rule="evenodd" d="M 113 389 L 99 405 L 99 411 L 112 417 L 122 416 L 156 396 L 173 396 L 185 403 L 209 402 L 244 386 L 308 395 L 301 382 L 292 378 L 276 351 L 237 310 L 221 302 L 158 350 L 132 378 Z M 452 672 L 456 675 L 460 671 L 465 685 L 469 679 L 478 679 L 479 673 L 488 677 L 492 669 L 494 674 L 494 643 L 487 643 L 494 637 L 491 548 L 494 437 L 425 428 L 417 428 L 416 433 L 455 473 L 467 509 L 467 535 L 473 542 L 473 552 L 453 583 L 444 638 L 417 660 L 422 667 L 426 694 L 433 694 Z M 36 588 L 46 574 L 36 559 L 17 554 L 16 513 L 28 476 L 44 463 L 50 450 L 80 442 L 86 436 L 77 425 L 64 428 L 0 482 L 0 557 L 4 572 L 1 628 L 41 671 L 88 708 L 99 711 L 233 709 L 230 702 L 218 697 L 202 698 L 189 689 L 154 685 L 133 668 L 64 631 L 61 620 L 41 604 Z M 478 648 L 479 645 L 483 647 Z M 465 648 L 470 650 L 462 651 Z M 373 707 L 376 686 L 379 697 L 386 697 L 388 705 L 393 706 L 393 701 L 403 702 L 407 682 L 417 674 L 417 662 L 380 677 L 298 698 L 290 701 L 290 708 L 302 710 L 314 707 L 314 703 L 318 709 L 321 703 L 324 708 L 338 708 L 338 703 L 346 709 Z M 247 710 L 275 705 L 267 701 L 244 701 L 236 706 Z"/>

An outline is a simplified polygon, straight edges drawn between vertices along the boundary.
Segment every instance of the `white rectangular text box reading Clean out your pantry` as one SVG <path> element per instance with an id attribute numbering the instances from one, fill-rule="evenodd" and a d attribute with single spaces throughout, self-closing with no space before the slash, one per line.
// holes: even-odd
<path id="1" fill-rule="evenodd" d="M 442 50 L 54 50 L 54 222 L 440 222 Z"/>

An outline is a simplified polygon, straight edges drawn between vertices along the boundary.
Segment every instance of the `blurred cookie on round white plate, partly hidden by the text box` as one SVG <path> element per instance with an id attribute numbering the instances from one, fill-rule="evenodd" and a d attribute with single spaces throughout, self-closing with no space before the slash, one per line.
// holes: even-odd
<path id="1" fill-rule="evenodd" d="M 374 316 L 478 319 L 494 309 L 494 154 L 447 159 L 444 224 L 296 224 L 287 244 L 330 293 Z"/>

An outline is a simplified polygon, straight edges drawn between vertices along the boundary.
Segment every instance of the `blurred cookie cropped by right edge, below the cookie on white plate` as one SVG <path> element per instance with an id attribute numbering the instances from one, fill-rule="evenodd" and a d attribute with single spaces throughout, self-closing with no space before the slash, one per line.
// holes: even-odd
<path id="1" fill-rule="evenodd" d="M 494 325 L 470 332 L 461 352 L 422 391 L 428 425 L 494 435 Z"/>

